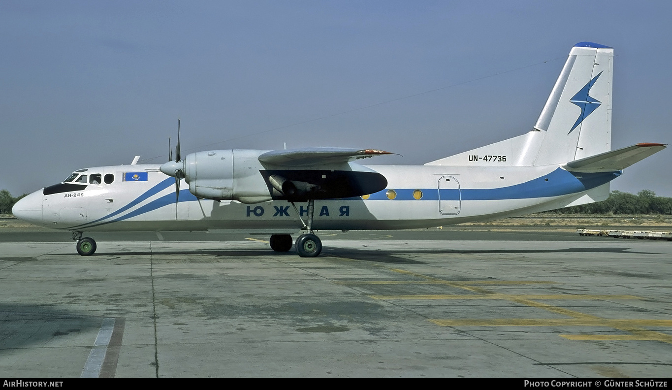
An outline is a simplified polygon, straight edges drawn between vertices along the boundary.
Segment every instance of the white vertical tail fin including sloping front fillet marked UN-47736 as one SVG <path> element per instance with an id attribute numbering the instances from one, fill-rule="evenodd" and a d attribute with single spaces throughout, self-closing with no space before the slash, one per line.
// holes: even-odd
<path id="1" fill-rule="evenodd" d="M 577 43 L 532 131 L 425 165 L 491 165 L 484 155 L 505 157 L 498 165 L 559 165 L 610 151 L 613 60 L 614 48 Z"/>

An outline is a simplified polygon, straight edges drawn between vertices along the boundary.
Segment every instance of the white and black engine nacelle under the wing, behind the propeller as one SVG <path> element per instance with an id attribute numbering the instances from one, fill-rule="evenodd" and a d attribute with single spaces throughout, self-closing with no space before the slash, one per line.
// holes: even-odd
<path id="1" fill-rule="evenodd" d="M 306 202 L 310 199 L 351 198 L 374 194 L 387 186 L 380 173 L 355 163 L 288 169 L 263 165 L 266 151 L 228 149 L 190 153 L 169 161 L 161 171 L 184 178 L 198 198 L 259 203 L 267 200 Z"/>

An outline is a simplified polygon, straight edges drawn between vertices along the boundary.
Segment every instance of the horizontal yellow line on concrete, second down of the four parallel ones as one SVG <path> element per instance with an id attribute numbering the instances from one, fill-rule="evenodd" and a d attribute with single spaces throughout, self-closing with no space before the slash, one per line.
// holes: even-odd
<path id="1" fill-rule="evenodd" d="M 571 300 L 571 299 L 644 299 L 634 295 L 589 295 L 589 294 L 539 294 L 539 295 L 516 295 L 516 294 L 484 294 L 484 295 L 370 295 L 373 299 L 506 299 L 509 301 L 528 300 L 528 299 L 555 299 L 555 300 Z M 528 303 L 526 303 L 528 305 Z M 539 305 L 534 305 L 538 307 Z M 552 307 L 547 305 L 548 307 Z M 542 307 L 546 309 L 547 307 Z"/>

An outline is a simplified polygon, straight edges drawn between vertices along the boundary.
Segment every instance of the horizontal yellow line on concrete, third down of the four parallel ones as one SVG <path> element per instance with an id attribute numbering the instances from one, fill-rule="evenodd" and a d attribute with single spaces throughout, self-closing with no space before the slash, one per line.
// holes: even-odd
<path id="1" fill-rule="evenodd" d="M 616 329 L 624 325 L 672 327 L 672 319 L 493 318 L 430 319 L 429 321 L 442 326 L 604 326 Z"/>

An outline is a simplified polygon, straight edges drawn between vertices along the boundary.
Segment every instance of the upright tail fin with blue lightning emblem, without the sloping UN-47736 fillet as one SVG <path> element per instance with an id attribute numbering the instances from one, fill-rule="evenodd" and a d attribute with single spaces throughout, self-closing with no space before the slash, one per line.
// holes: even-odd
<path id="1" fill-rule="evenodd" d="M 545 132 L 534 165 L 566 163 L 611 150 L 614 48 L 577 43 L 533 130 Z"/>

